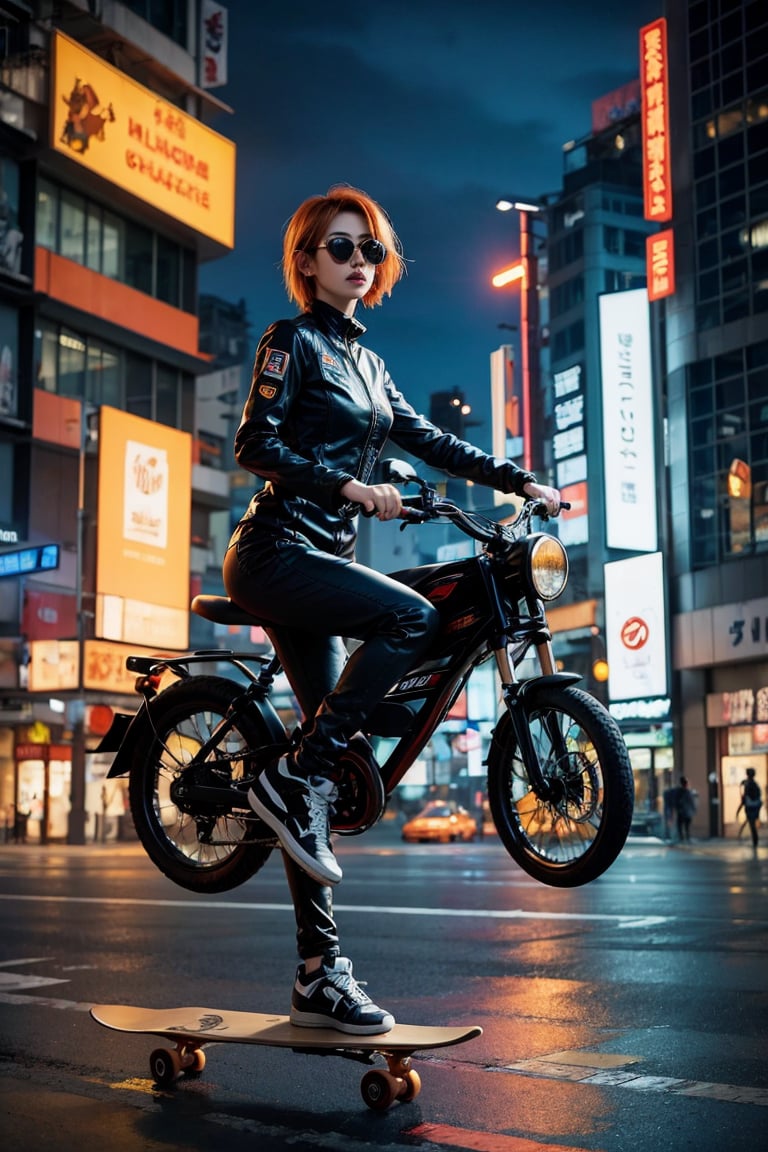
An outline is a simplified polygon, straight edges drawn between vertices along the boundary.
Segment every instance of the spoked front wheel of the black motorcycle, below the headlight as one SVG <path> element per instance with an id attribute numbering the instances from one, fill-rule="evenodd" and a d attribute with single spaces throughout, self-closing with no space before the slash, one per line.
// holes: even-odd
<path id="1" fill-rule="evenodd" d="M 534 879 L 575 888 L 601 876 L 629 835 L 632 766 L 618 725 L 587 692 L 532 685 L 524 707 L 547 782 L 538 796 L 509 714 L 488 756 L 488 803 L 509 855 Z"/>

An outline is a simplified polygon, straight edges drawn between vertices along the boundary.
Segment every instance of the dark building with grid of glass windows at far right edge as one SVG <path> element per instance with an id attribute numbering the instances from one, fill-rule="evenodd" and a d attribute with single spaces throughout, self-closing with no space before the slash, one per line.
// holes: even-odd
<path id="1" fill-rule="evenodd" d="M 768 7 L 667 0 L 675 290 L 657 305 L 669 422 L 679 770 L 737 835 L 768 764 Z"/>

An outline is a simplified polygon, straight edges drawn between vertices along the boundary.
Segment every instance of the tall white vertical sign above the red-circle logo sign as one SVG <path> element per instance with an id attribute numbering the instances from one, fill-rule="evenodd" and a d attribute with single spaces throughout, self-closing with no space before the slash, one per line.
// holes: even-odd
<path id="1" fill-rule="evenodd" d="M 606 545 L 655 552 L 656 460 L 645 288 L 600 296 Z"/>

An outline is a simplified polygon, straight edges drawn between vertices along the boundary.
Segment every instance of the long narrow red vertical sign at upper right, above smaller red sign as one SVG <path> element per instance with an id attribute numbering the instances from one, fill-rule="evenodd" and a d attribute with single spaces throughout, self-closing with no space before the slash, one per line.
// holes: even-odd
<path id="1" fill-rule="evenodd" d="M 669 145 L 669 59 L 667 21 L 640 29 L 640 124 L 642 197 L 646 220 L 672 218 L 672 172 Z"/>

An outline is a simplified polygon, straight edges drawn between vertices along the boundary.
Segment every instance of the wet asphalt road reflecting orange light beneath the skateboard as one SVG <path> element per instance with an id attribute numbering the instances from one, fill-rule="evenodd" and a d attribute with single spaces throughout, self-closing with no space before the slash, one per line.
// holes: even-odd
<path id="1" fill-rule="evenodd" d="M 284 1013 L 292 914 L 279 857 L 199 897 L 135 844 L 0 847 L 5 1146 L 334 1152 L 765 1147 L 768 849 L 633 841 L 600 880 L 546 888 L 495 838 L 341 842 L 344 950 L 398 1022 L 480 1024 L 415 1058 L 421 1093 L 373 1113 L 364 1068 L 219 1045 L 159 1090 L 159 1041 L 90 1005 Z M 12 1143 L 13 1142 L 13 1143 Z"/>

